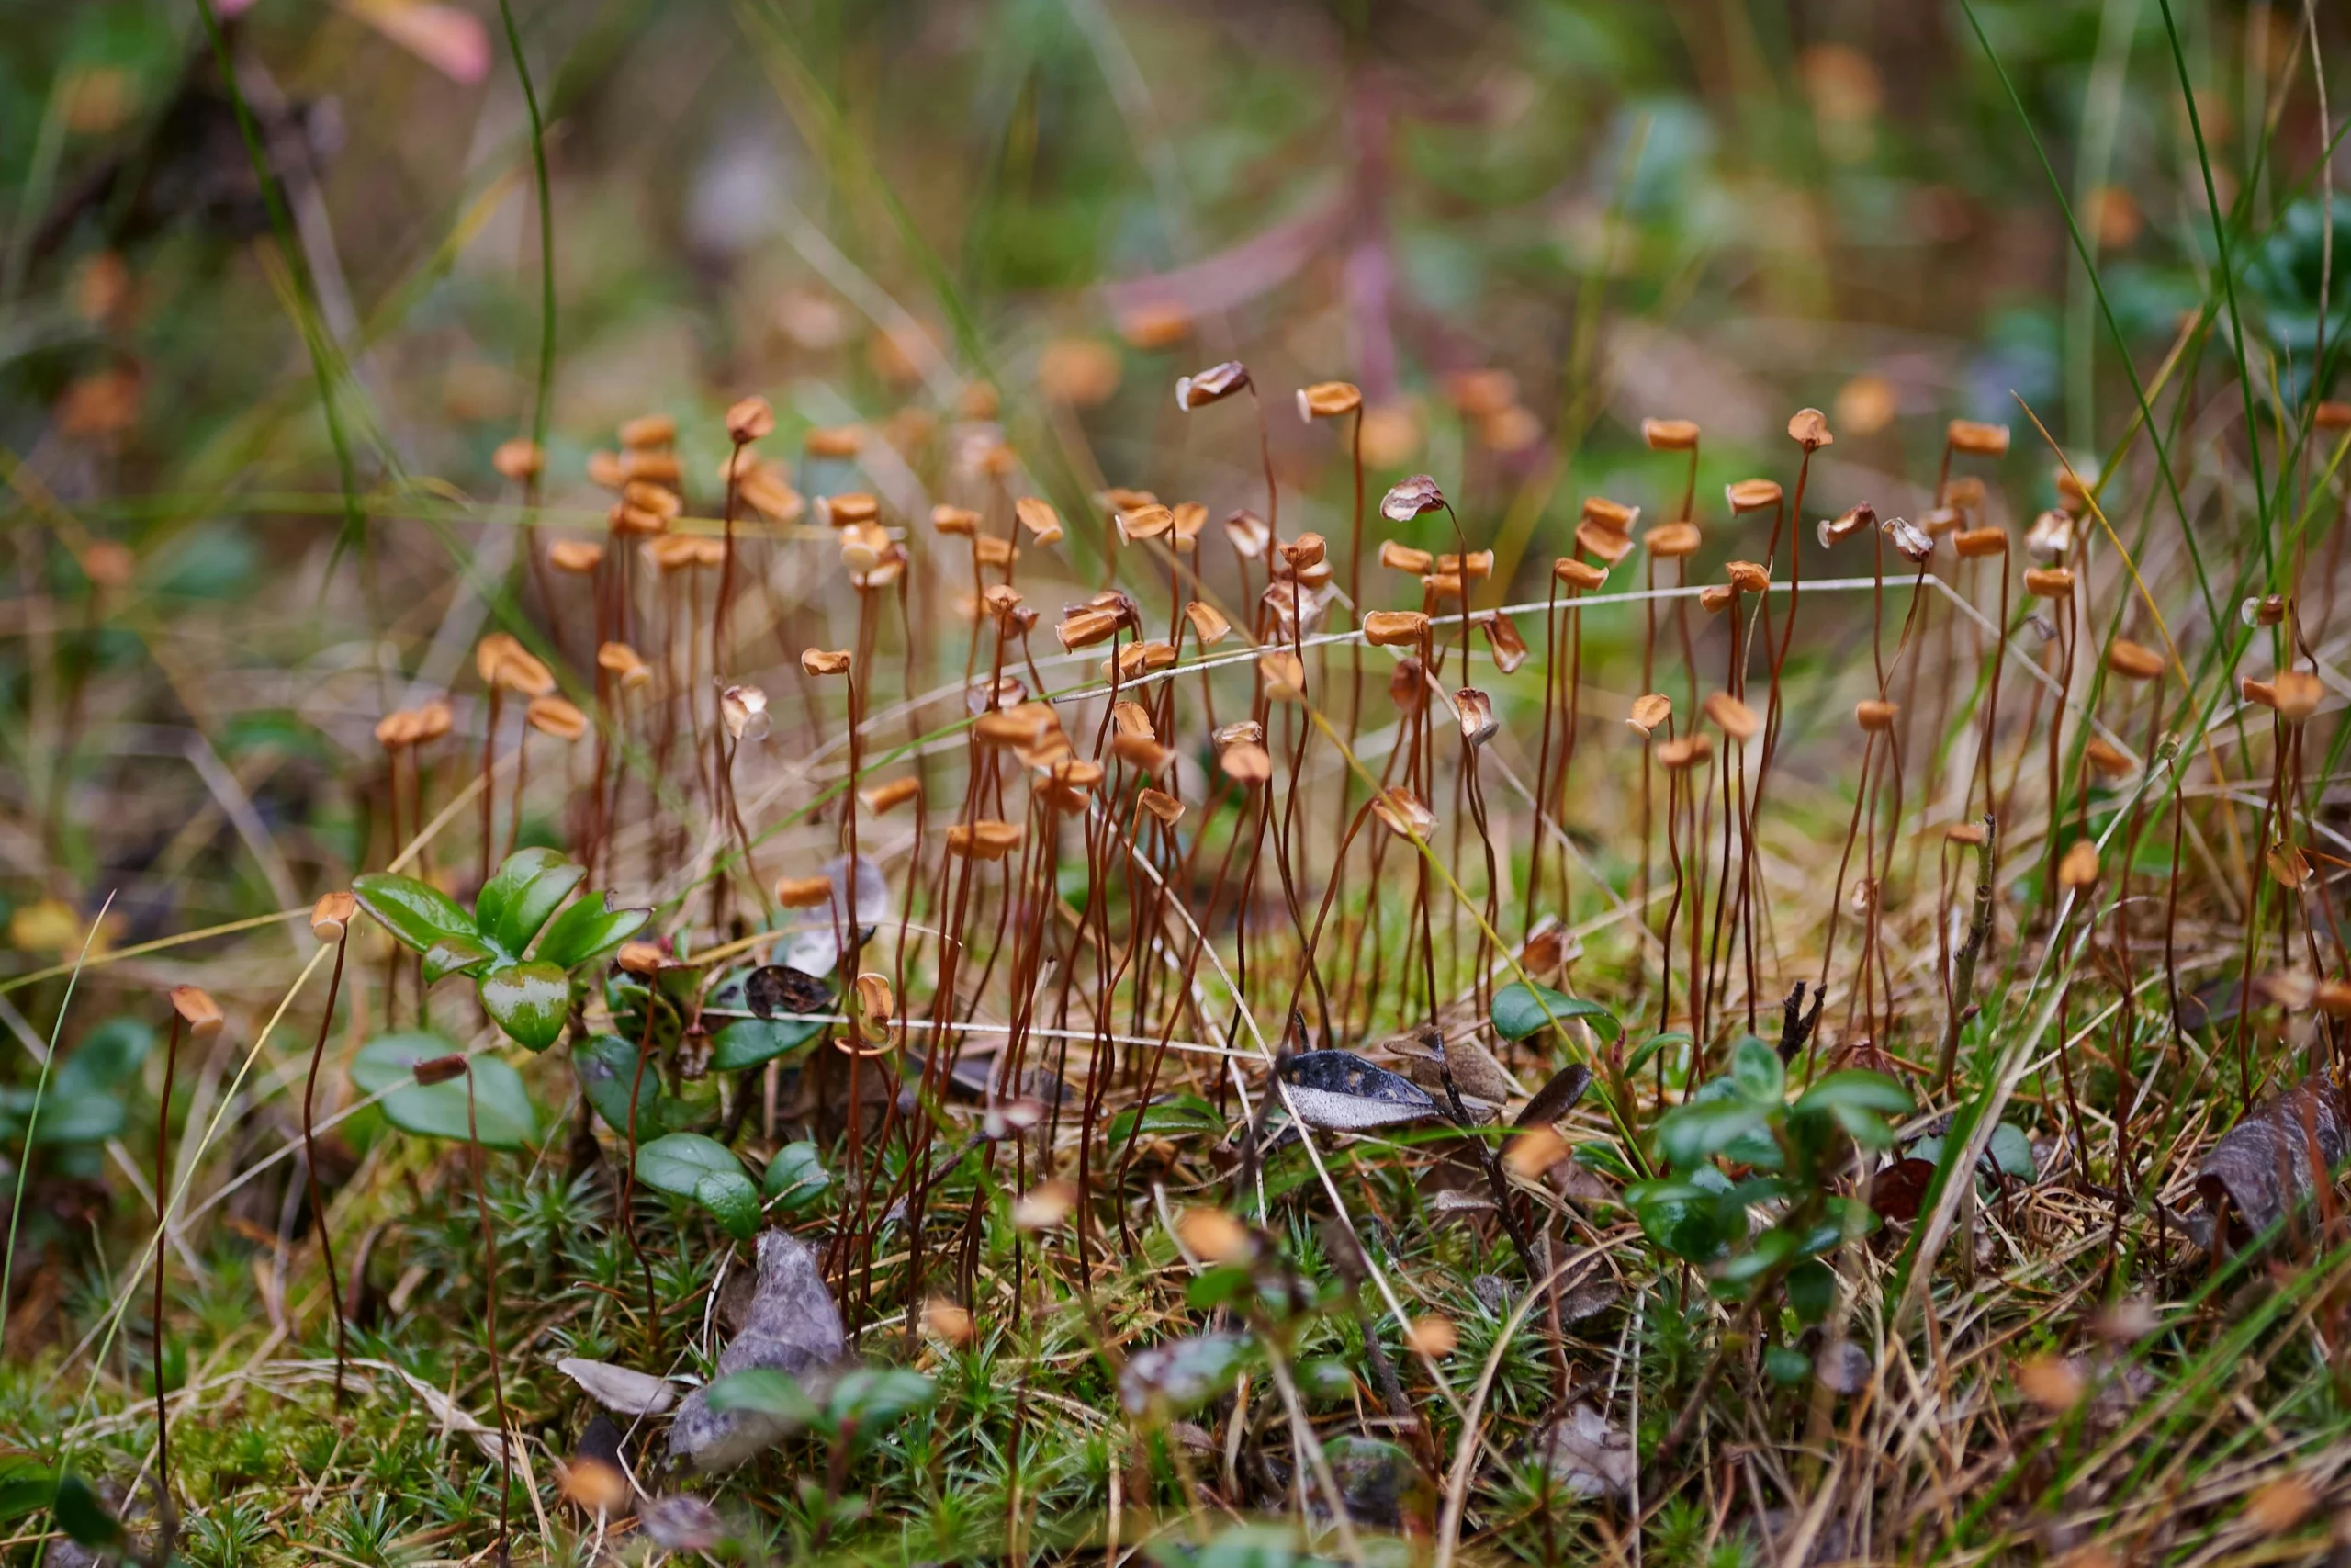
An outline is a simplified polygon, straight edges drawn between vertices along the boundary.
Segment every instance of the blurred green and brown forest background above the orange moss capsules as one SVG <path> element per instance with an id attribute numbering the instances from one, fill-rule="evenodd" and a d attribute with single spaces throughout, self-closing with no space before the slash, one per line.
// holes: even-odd
<path id="1" fill-rule="evenodd" d="M 336 555 L 310 348 L 348 364 L 364 494 L 513 498 L 489 454 L 534 423 L 531 141 L 496 5 L 214 7 L 308 284 L 259 242 L 195 5 L 19 5 L 0 42 L 0 879 L 28 952 L 56 931 L 26 917 L 87 905 L 101 870 L 183 872 L 174 919 L 310 886 L 233 827 L 282 865 L 357 853 L 329 785 L 376 757 L 388 672 L 430 675 L 475 536 L 395 517 Z M 2344 14 L 2318 9 L 2325 56 Z M 1975 14 L 2161 357 L 2210 268 L 2161 0 Z M 2222 202 L 2283 106 L 2243 292 L 2302 397 L 2318 188 L 2280 207 L 2325 143 L 2306 12 L 2175 14 Z M 1923 505 L 1944 418 L 2024 430 L 2010 393 L 2085 465 L 2132 407 L 2027 125 L 1944 0 L 517 0 L 513 24 L 555 193 L 557 517 L 602 512 L 588 451 L 647 409 L 686 423 L 701 477 L 743 393 L 785 437 L 919 440 L 973 383 L 1065 505 L 1107 482 L 1223 512 L 1260 494 L 1251 442 L 1168 388 L 1239 355 L 1274 397 L 1359 381 L 1375 477 L 1439 475 L 1540 597 L 1582 496 L 1679 489 L 1646 414 L 1702 421 L 1707 496 L 1784 477 L 1787 414 L 1827 409 L 1808 510 L 1834 512 Z M 1342 447 L 1288 418 L 1274 442 L 1286 522 L 1340 527 Z M 2048 494 L 2020 437 L 1994 505 Z M 353 559 L 364 595 L 329 583 Z"/>

